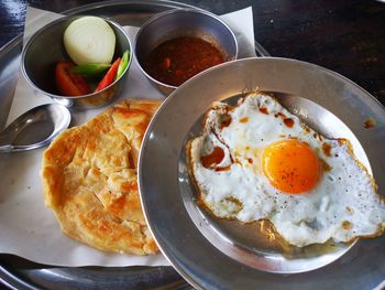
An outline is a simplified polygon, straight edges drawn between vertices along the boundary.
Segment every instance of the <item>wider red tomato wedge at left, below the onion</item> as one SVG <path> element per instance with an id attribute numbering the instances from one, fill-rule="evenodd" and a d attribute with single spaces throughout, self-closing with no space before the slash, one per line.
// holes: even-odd
<path id="1" fill-rule="evenodd" d="M 55 68 L 55 79 L 58 92 L 64 96 L 81 96 L 91 93 L 82 76 L 74 74 L 70 62 L 58 62 Z"/>

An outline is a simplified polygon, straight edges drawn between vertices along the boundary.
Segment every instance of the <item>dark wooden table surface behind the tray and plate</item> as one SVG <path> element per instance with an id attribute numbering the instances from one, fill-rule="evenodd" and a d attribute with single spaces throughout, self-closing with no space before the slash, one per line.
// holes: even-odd
<path id="1" fill-rule="evenodd" d="M 0 46 L 23 33 L 25 9 L 62 12 L 90 0 L 2 0 Z M 273 56 L 321 65 L 385 104 L 385 2 L 370 0 L 184 0 L 222 14 L 253 7 L 255 40 Z"/>

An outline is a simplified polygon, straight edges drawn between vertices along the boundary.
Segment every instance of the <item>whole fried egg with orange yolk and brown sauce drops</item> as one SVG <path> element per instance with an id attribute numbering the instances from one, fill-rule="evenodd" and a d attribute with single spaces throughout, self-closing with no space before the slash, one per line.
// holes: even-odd
<path id="1" fill-rule="evenodd" d="M 384 201 L 350 142 L 322 137 L 270 95 L 212 104 L 187 155 L 198 198 L 217 217 L 268 219 L 297 247 L 384 230 Z"/>

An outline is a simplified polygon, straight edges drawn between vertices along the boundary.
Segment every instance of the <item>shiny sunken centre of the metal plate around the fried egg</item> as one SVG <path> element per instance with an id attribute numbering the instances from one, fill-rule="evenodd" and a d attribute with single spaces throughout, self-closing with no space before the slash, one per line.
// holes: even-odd
<path id="1" fill-rule="evenodd" d="M 277 92 L 268 93 L 273 93 L 280 104 L 285 105 L 293 114 L 299 115 L 301 119 L 308 119 L 307 123 L 311 123 L 312 129 L 323 136 L 328 138 L 343 136 L 352 140 L 358 158 L 371 171 L 370 163 L 359 140 L 349 127 L 333 114 L 307 98 Z M 235 95 L 222 101 L 235 105 L 242 96 L 244 94 Z M 316 123 L 315 120 L 318 120 L 318 122 Z M 330 123 L 333 126 L 331 127 Z M 202 118 L 199 118 L 186 135 L 187 138 L 183 143 L 184 148 L 193 137 L 201 133 L 201 125 Z M 279 243 L 270 243 L 257 223 L 244 225 L 235 221 L 213 217 L 197 205 L 198 196 L 188 173 L 185 150 L 182 151 L 179 157 L 178 180 L 185 207 L 200 233 L 223 254 L 258 270 L 280 273 L 314 270 L 338 259 L 355 244 L 327 243 L 326 245 L 312 245 L 304 248 L 283 246 Z"/>

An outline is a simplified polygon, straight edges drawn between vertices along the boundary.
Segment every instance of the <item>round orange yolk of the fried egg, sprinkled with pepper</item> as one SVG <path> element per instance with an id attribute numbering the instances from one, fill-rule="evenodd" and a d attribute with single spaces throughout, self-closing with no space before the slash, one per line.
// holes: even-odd
<path id="1" fill-rule="evenodd" d="M 321 175 L 317 154 L 307 143 L 292 139 L 266 148 L 262 169 L 270 183 L 285 193 L 305 193 Z"/>

